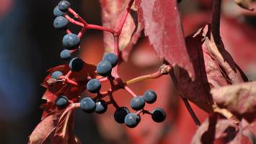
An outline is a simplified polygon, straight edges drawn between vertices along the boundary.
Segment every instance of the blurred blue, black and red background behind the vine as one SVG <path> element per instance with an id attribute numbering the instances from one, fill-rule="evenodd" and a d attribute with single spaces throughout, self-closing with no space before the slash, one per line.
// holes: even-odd
<path id="1" fill-rule="evenodd" d="M 180 3 L 185 35 L 195 32 L 209 22 L 211 2 L 183 0 Z M 27 143 L 28 137 L 40 122 L 40 98 L 45 89 L 40 83 L 48 68 L 68 61 L 61 60 L 63 32 L 53 28 L 53 8 L 57 0 L 1 0 L 0 1 L 0 143 Z M 100 3 L 95 0 L 71 1 L 88 23 L 101 24 Z M 256 5 L 253 4 L 252 7 Z M 223 1 L 221 36 L 226 49 L 247 74 L 256 80 L 256 13 L 242 10 L 234 1 Z M 81 41 L 81 58 L 96 64 L 102 58 L 102 32 L 87 31 Z M 157 71 L 161 65 L 149 41 L 143 37 L 133 49 L 131 59 L 121 66 L 124 79 Z M 134 84 L 136 94 L 154 89 L 159 95 L 156 104 L 164 107 L 167 120 L 162 124 L 142 118 L 139 127 L 127 129 L 114 122 L 113 109 L 102 115 L 76 112 L 75 133 L 82 143 L 189 143 L 196 126 L 184 105 L 175 94 L 171 79 L 166 76 Z M 123 91 L 118 101 L 128 105 L 131 97 Z M 122 95 L 122 97 L 118 96 Z M 193 105 L 203 122 L 207 114 Z"/>

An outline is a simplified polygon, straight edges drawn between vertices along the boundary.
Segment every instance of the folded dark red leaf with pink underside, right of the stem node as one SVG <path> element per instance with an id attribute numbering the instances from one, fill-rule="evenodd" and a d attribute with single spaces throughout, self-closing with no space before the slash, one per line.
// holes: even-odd
<path id="1" fill-rule="evenodd" d="M 178 89 L 186 99 L 206 112 L 211 111 L 211 88 L 238 84 L 244 80 L 224 45 L 216 45 L 211 40 L 209 25 L 186 37 L 186 44 L 196 70 L 195 81 L 187 76 L 186 71 L 180 70 Z"/>

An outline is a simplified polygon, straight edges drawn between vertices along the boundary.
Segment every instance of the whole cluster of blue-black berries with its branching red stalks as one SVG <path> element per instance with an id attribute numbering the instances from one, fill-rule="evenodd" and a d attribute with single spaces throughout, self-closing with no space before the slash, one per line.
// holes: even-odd
<path id="1" fill-rule="evenodd" d="M 131 4 L 129 4 L 129 6 L 130 5 Z M 64 60 L 70 59 L 71 54 L 74 53 L 76 50 L 80 49 L 80 38 L 87 29 L 105 30 L 107 32 L 111 32 L 113 36 L 120 34 L 120 28 L 115 31 L 108 29 L 107 27 L 87 24 L 87 22 L 85 22 L 84 19 L 81 19 L 81 17 L 79 17 L 79 15 L 76 14 L 76 12 L 74 12 L 74 10 L 71 9 L 70 6 L 71 4 L 69 3 L 69 1 L 60 1 L 58 3 L 58 6 L 56 6 L 53 10 L 53 14 L 54 16 L 56 16 L 56 19 L 54 19 L 53 22 L 53 26 L 58 30 L 66 31 L 66 35 L 64 35 L 62 40 L 63 48 L 65 48 L 65 50 L 61 51 L 61 58 L 63 58 Z M 71 18 L 69 14 L 72 14 L 74 16 L 74 19 Z M 82 27 L 78 35 L 72 33 L 69 30 L 69 23 L 76 24 Z M 68 112 L 70 109 L 80 108 L 87 113 L 96 112 L 97 114 L 102 114 L 107 111 L 108 105 L 112 104 L 116 108 L 114 114 L 115 121 L 118 123 L 125 123 L 125 125 L 127 125 L 128 127 L 136 127 L 141 121 L 141 114 L 151 114 L 152 120 L 154 120 L 155 122 L 163 122 L 166 118 L 166 113 L 164 112 L 164 109 L 156 108 L 151 112 L 144 109 L 145 104 L 153 104 L 154 102 L 156 102 L 156 93 L 154 91 L 148 90 L 144 93 L 143 96 L 137 96 L 128 87 L 128 85 L 132 84 L 133 82 L 144 80 L 145 76 L 142 78 L 133 78 L 133 80 L 131 80 L 130 82 L 123 82 L 122 79 L 118 76 L 118 64 L 120 63 L 120 61 L 121 60 L 119 51 L 115 50 L 115 53 L 105 53 L 102 61 L 97 64 L 95 71 L 97 73 L 97 76 L 95 78 L 88 77 L 89 81 L 87 82 L 86 86 L 84 86 L 87 91 L 92 94 L 96 94 L 94 98 L 85 96 L 83 99 L 81 99 L 80 102 L 73 102 L 67 96 L 63 96 L 62 94 L 60 94 L 56 99 L 56 106 L 66 109 L 65 112 Z M 86 62 L 84 62 L 84 60 L 82 60 L 81 58 L 72 58 L 69 62 L 69 73 L 64 74 L 62 71 L 54 71 L 51 74 L 51 78 L 53 78 L 55 81 L 61 81 L 63 84 L 78 86 L 79 83 L 77 83 L 77 81 L 74 81 L 73 79 L 71 80 L 69 77 L 72 75 L 72 73 L 83 70 L 85 66 Z M 169 67 L 167 67 L 167 69 L 168 68 Z M 162 76 L 166 73 L 167 72 L 163 72 L 161 69 L 161 71 L 157 71 L 153 75 L 150 75 L 148 78 L 158 78 L 159 76 Z M 108 91 L 100 91 L 102 83 L 105 81 L 110 82 L 111 88 Z M 112 93 L 117 91 L 118 89 L 124 89 L 128 92 L 128 94 L 131 94 L 133 96 L 130 105 L 131 108 L 136 112 L 130 112 L 127 107 L 118 106 L 117 102 L 115 102 L 115 99 L 112 96 Z M 108 96 L 110 98 L 110 102 L 105 102 L 105 100 L 103 100 L 105 96 Z M 79 98 L 80 96 L 76 97 Z"/>

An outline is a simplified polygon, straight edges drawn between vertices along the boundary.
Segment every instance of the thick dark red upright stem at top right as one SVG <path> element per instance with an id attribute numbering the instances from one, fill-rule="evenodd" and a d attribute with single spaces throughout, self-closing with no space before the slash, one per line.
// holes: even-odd
<path id="1" fill-rule="evenodd" d="M 214 41 L 219 44 L 220 36 L 220 21 L 221 21 L 221 0 L 213 0 L 213 12 L 211 17 L 211 32 Z"/>

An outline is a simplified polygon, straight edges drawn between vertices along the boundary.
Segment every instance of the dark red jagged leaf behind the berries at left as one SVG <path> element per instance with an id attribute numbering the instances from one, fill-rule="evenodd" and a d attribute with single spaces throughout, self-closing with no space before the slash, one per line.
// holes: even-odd
<path id="1" fill-rule="evenodd" d="M 48 70 L 49 74 L 48 76 L 46 76 L 42 84 L 42 86 L 47 88 L 47 90 L 42 97 L 42 99 L 46 100 L 46 103 L 40 106 L 42 109 L 44 109 L 41 119 L 43 120 L 49 114 L 52 114 L 53 112 L 58 112 L 58 110 L 60 110 L 55 105 L 56 99 L 60 94 L 63 94 L 73 102 L 76 102 L 79 99 L 81 93 L 86 89 L 86 84 L 89 80 L 88 76 L 90 76 L 91 78 L 96 77 L 95 69 L 96 66 L 85 63 L 84 68 L 81 71 L 72 72 L 69 78 L 79 84 L 79 86 L 73 86 L 71 84 L 62 84 L 61 82 L 56 82 L 53 78 L 51 78 L 51 75 L 54 71 L 61 71 L 64 75 L 68 73 L 70 70 L 69 65 L 61 65 L 50 68 Z M 49 80 L 53 82 L 53 84 L 48 84 Z"/>

